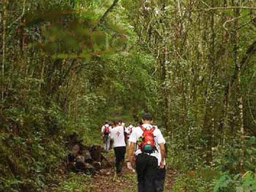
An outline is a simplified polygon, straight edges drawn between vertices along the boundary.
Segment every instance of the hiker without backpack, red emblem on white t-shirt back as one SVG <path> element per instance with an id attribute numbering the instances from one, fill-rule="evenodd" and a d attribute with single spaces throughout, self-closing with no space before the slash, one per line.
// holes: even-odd
<path id="1" fill-rule="evenodd" d="M 119 125 L 118 121 L 114 122 L 110 133 L 111 140 L 113 140 L 113 148 L 116 157 L 116 174 L 119 175 L 122 171 L 124 156 L 126 152 L 126 145 L 124 141 L 124 128 Z"/>

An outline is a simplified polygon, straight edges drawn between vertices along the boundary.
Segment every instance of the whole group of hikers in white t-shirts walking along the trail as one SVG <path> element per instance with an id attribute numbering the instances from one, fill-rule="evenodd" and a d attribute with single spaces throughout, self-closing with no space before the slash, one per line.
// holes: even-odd
<path id="1" fill-rule="evenodd" d="M 144 113 L 136 127 L 125 127 L 121 120 L 116 120 L 105 122 L 101 128 L 104 149 L 109 151 L 113 147 L 115 152 L 116 175 L 121 175 L 124 162 L 127 169 L 136 170 L 139 192 L 164 189 L 166 142 L 160 129 L 152 123 L 152 115 Z"/>

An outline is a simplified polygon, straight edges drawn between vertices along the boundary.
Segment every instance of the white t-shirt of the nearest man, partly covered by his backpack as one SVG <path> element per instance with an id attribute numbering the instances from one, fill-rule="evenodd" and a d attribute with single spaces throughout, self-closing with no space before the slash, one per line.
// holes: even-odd
<path id="1" fill-rule="evenodd" d="M 153 126 L 150 124 L 143 124 L 142 125 L 146 129 L 151 129 Z M 154 138 L 155 138 L 155 145 L 157 150 L 154 153 L 151 153 L 150 155 L 154 156 L 158 160 L 158 165 L 160 165 L 161 162 L 161 153 L 160 153 L 160 147 L 159 144 L 165 143 L 165 139 L 163 138 L 163 135 L 160 131 L 160 129 L 157 128 L 157 126 L 154 126 L 156 129 L 153 132 Z M 138 139 L 143 135 L 143 131 L 140 127 L 135 127 L 133 128 L 133 132 L 129 138 L 130 142 L 135 142 L 137 143 Z M 136 150 L 135 154 L 138 155 L 142 153 L 140 149 Z"/>

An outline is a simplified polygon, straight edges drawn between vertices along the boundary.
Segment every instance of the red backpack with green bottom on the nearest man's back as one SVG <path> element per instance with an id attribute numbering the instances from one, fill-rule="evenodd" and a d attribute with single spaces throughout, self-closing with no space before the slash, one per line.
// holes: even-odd
<path id="1" fill-rule="evenodd" d="M 156 146 L 155 146 L 155 139 L 154 139 L 153 132 L 155 131 L 156 127 L 153 126 L 150 130 L 147 130 L 143 126 L 140 126 L 140 128 L 143 131 L 142 142 L 139 147 L 140 150 L 145 153 L 154 152 L 156 150 Z"/>

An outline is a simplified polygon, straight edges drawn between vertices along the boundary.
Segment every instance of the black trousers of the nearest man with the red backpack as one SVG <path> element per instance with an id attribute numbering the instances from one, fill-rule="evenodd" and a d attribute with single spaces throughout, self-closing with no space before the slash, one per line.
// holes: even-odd
<path id="1" fill-rule="evenodd" d="M 139 192 L 155 192 L 155 178 L 157 171 L 157 158 L 139 154 L 136 157 L 136 172 L 138 176 Z"/>

